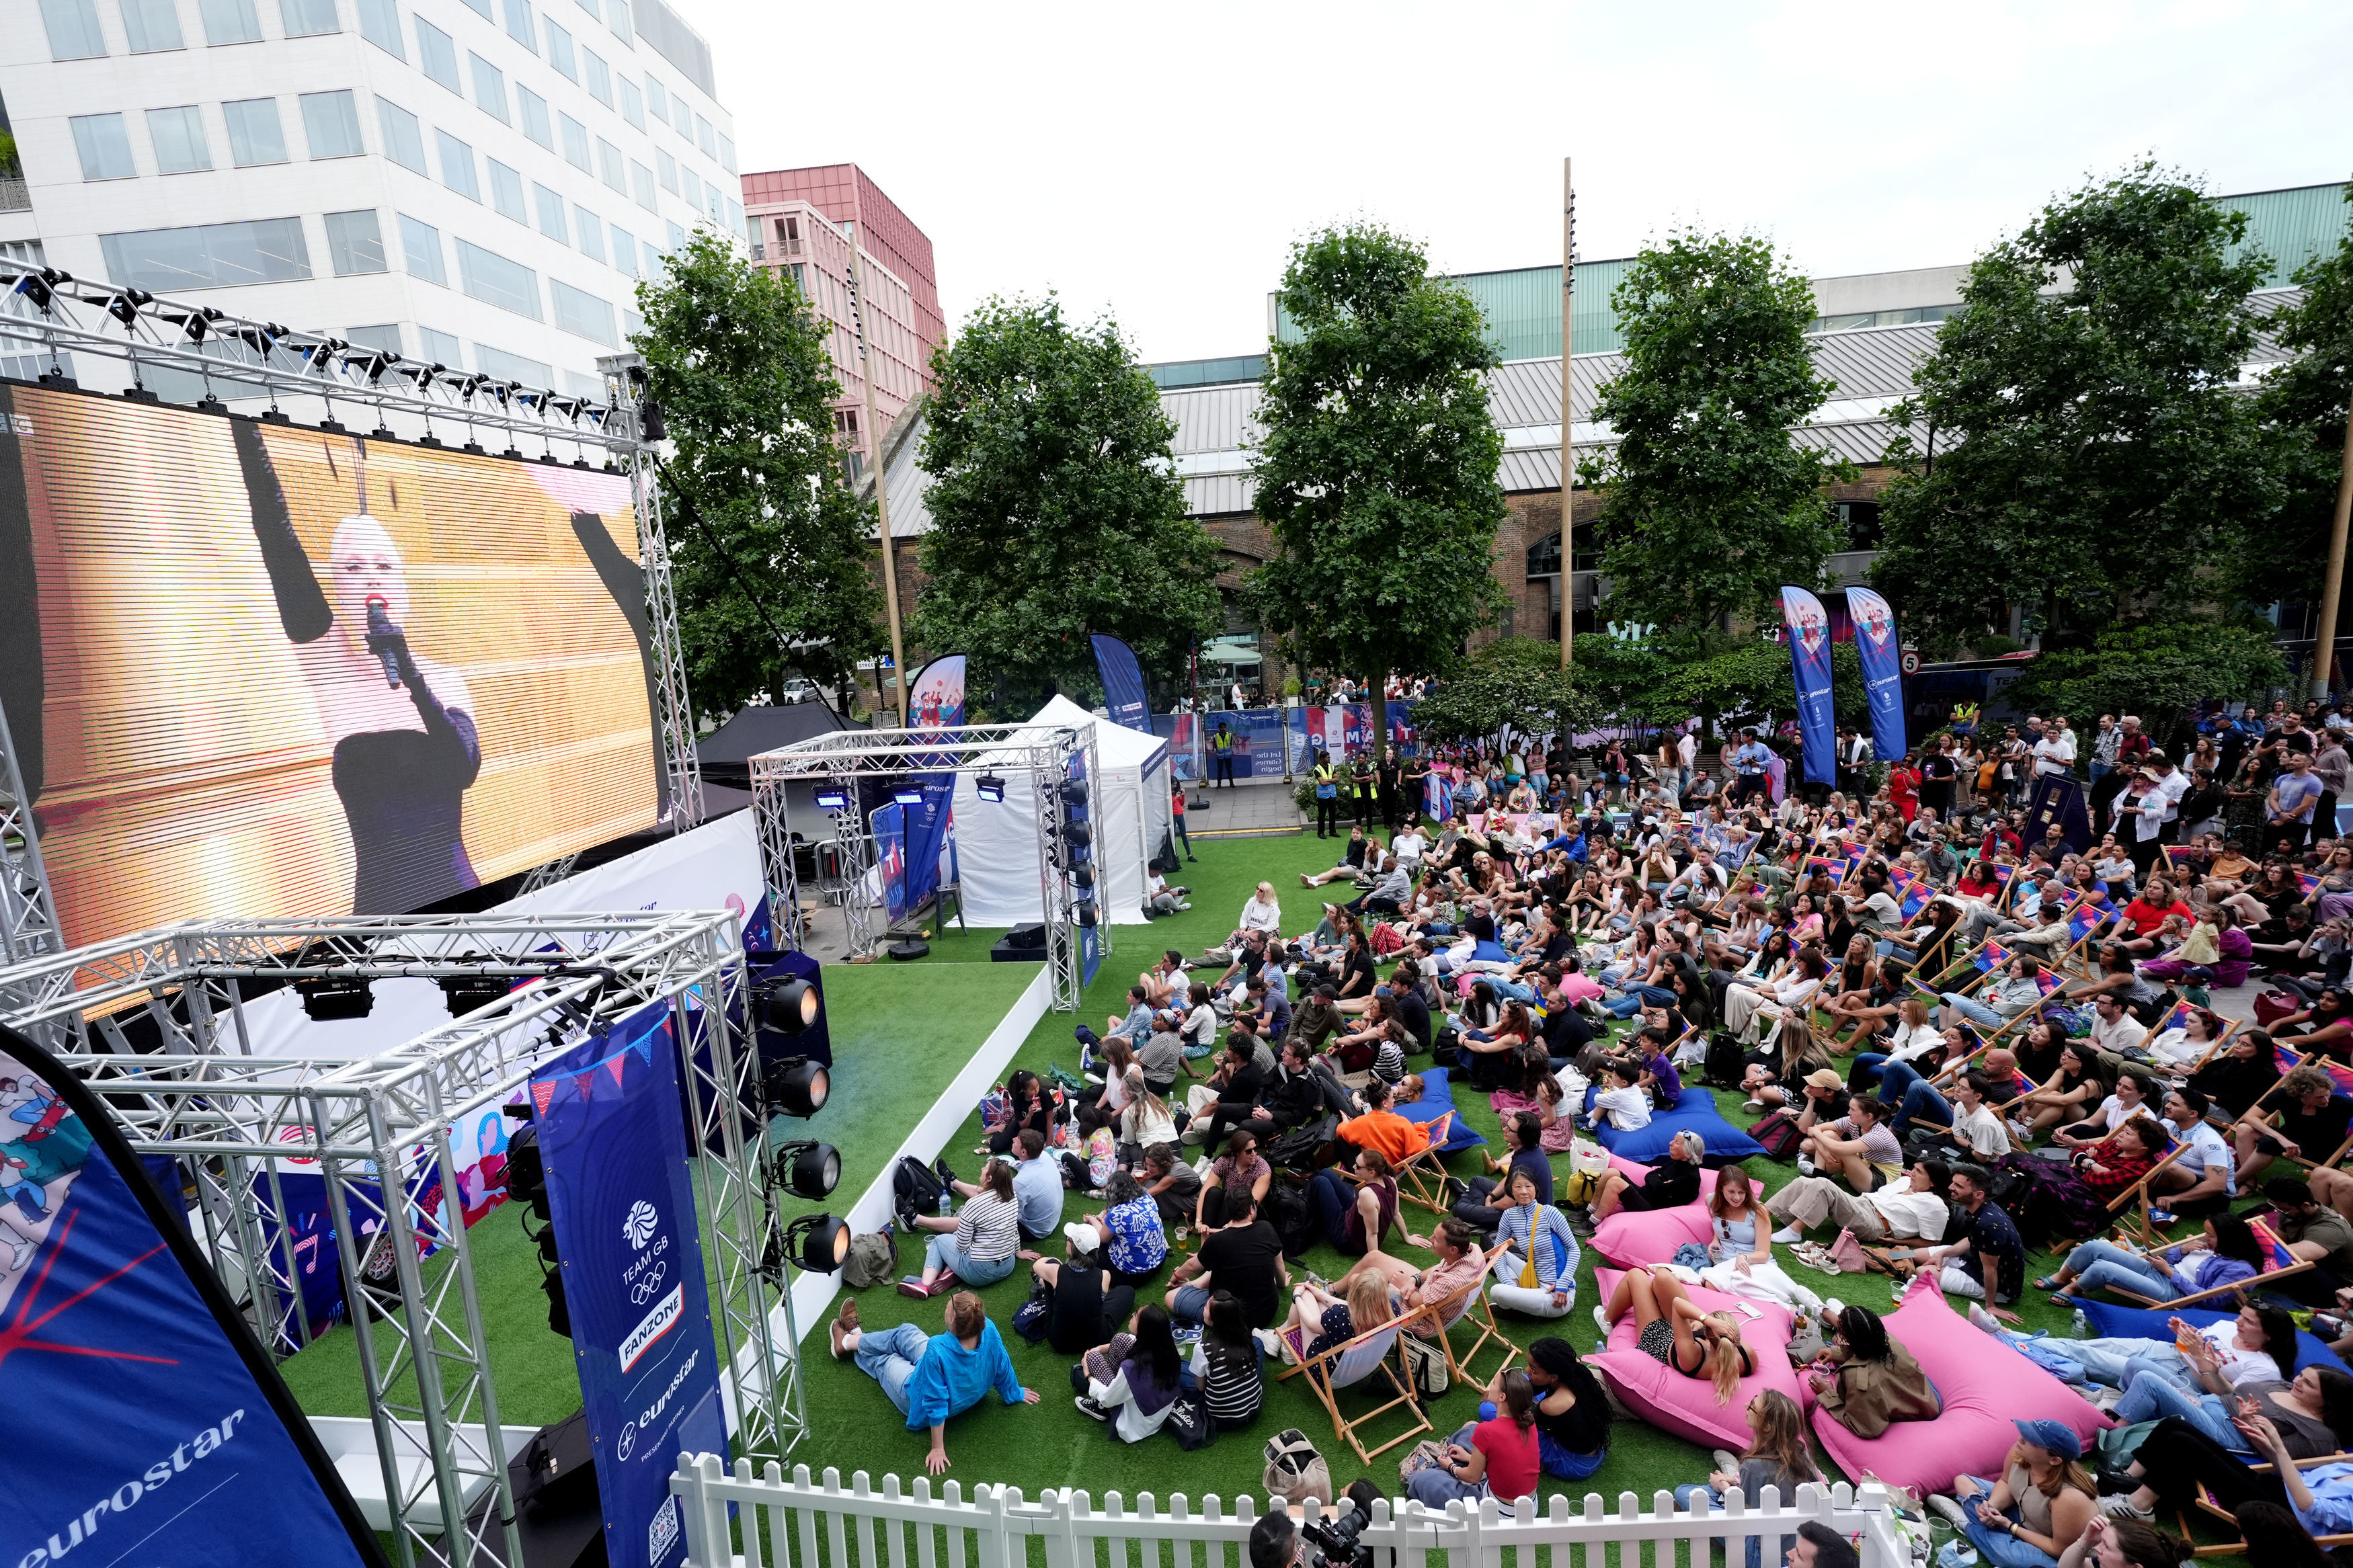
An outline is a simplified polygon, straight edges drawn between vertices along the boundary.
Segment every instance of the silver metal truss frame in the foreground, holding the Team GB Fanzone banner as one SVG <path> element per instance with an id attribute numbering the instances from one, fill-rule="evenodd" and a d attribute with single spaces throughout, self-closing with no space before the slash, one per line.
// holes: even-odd
<path id="1" fill-rule="evenodd" d="M 252 1056 L 247 992 L 329 976 L 492 976 L 511 990 L 374 1058 Z M 760 1105 L 760 1063 L 736 1032 L 744 987 L 729 912 L 256 919 L 0 969 L 0 1023 L 61 1037 L 129 1140 L 176 1161 L 195 1190 L 198 1239 L 273 1356 L 299 1349 L 308 1321 L 296 1239 L 280 1222 L 282 1175 L 301 1164 L 325 1178 L 395 1556 L 405 1568 L 480 1568 L 522 1561 L 515 1455 L 499 1432 L 459 1204 L 426 1208 L 414 1194 L 456 1171 L 461 1117 L 504 1107 L 553 1053 L 647 1006 L 671 1009 L 675 1037 L 692 1041 L 682 1084 L 701 1138 L 689 1159 L 736 1453 L 784 1460 L 807 1432 L 769 1140 L 746 1117 Z M 132 1051 L 118 1025 L 139 1009 L 162 1032 L 160 1053 Z M 388 1345 L 365 1331 L 369 1316 Z"/>

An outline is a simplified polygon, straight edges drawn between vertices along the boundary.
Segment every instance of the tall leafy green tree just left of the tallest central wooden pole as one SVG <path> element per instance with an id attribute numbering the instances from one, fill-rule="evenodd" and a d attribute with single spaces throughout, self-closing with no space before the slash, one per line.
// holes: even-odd
<path id="1" fill-rule="evenodd" d="M 1374 223 L 1292 244 L 1252 449 L 1273 557 L 1249 602 L 1292 663 L 1365 677 L 1388 733 L 1391 670 L 1445 675 L 1504 604 L 1504 437 L 1478 306 Z"/>

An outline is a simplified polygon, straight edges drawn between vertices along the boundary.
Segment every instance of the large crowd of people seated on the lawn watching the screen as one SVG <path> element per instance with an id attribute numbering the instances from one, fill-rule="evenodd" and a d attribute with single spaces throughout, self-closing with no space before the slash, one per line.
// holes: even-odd
<path id="1" fill-rule="evenodd" d="M 1019 1159 L 993 1164 L 960 1215 L 925 1218 L 915 1286 L 1000 1279 L 1002 1234 L 1038 1239 L 1014 1201 L 1040 1157 L 1031 1135 L 1108 1128 L 1122 1168 L 1094 1192 L 1104 1211 L 1068 1227 L 1085 1260 L 1033 1272 L 1056 1298 L 1066 1269 L 1099 1274 L 1087 1300 L 1106 1305 L 1073 1392 L 1141 1441 L 1179 1392 L 1214 1387 L 1212 1415 L 1242 1422 L 1268 1361 L 1318 1363 L 1388 1324 L 1442 1333 L 1433 1312 L 1466 1288 L 1506 1324 L 1565 1319 L 1595 1227 L 1701 1206 L 1708 1255 L 1626 1269 L 1593 1314 L 1605 1333 L 1631 1321 L 1640 1354 L 1718 1406 L 1760 1352 L 1739 1314 L 1694 1298 L 1697 1262 L 1779 1272 L 1779 1248 L 1835 1267 L 1824 1248 L 1838 1239 L 1962 1302 L 1998 1354 L 2146 1425 L 2139 1450 L 2087 1453 L 2066 1422 L 2021 1420 L 2000 1465 L 1953 1476 L 1955 1528 L 2005 1568 L 2158 1561 L 2146 1521 L 2195 1502 L 2214 1450 L 2233 1465 L 2214 1495 L 2245 1505 L 2249 1540 L 2268 1505 L 2306 1530 L 2353 1526 L 2353 1460 L 2341 1476 L 2245 1465 L 2339 1453 L 2353 1420 L 2353 1375 L 2299 1366 L 2278 1305 L 2334 1309 L 2315 1328 L 2353 1349 L 2353 1175 L 2339 1168 L 2353 844 L 2337 846 L 2306 785 L 2278 783 L 2311 776 L 2280 731 L 2259 722 L 2271 741 L 2247 748 L 2275 769 L 2252 818 L 2231 816 L 2228 790 L 2200 797 L 2195 773 L 2113 717 L 2089 736 L 2064 719 L 1937 736 L 1875 792 L 1875 771 L 1842 764 L 1838 792 L 1779 804 L 1755 738 L 1727 748 L 1725 783 L 1680 748 L 1678 762 L 1440 759 L 1454 811 L 1426 830 L 1400 813 L 1386 846 L 1360 823 L 1329 872 L 1301 877 L 1334 891 L 1297 936 L 1259 884 L 1221 947 L 1162 954 L 1127 1011 L 1085 1032 L 1085 1091 L 1009 1086 L 988 1135 Z M 2052 769 L 2089 769 L 2089 846 L 2026 820 L 2026 783 Z M 2193 816 L 2207 806 L 2212 827 Z M 2285 999 L 2261 1027 L 2214 1001 L 2249 978 Z M 1449 1117 L 1424 1100 L 1421 1063 L 1449 1067 L 1452 1093 L 1489 1095 L 1499 1135 L 1482 1154 L 1438 1159 Z M 1699 1077 L 1777 1121 L 1795 1171 L 1727 1166 L 1704 1190 L 1708 1135 L 1671 1124 L 1647 1168 L 1562 1185 L 1558 1157 L 1642 1133 Z M 1438 1194 L 1431 1234 L 1407 1220 L 1417 1168 L 1417 1192 Z M 1285 1260 L 1266 1215 L 1294 1197 L 1348 1260 L 1339 1279 Z M 2028 1284 L 2031 1251 L 2052 1265 Z M 2064 1307 L 2188 1300 L 2238 1316 L 2146 1340 L 2040 1338 L 2009 1316 L 2028 1288 Z M 896 1363 L 927 1354 L 854 1321 L 835 1340 L 899 1394 Z M 986 1338 L 955 1345 L 979 1354 Z M 1941 1418 L 1920 1361 L 1864 1307 L 1833 1302 L 1800 1378 L 1859 1439 Z M 953 1408 L 976 1396 L 969 1373 L 941 1382 Z M 1600 1462 L 1607 1401 L 1565 1340 L 1534 1338 L 1482 1392 L 1494 1410 L 1424 1446 L 1400 1474 L 1409 1495 L 1508 1500 Z M 1795 1403 L 1758 1394 L 1744 1415 L 1751 1450 L 1720 1453 L 1680 1493 L 1687 1507 L 1819 1474 Z"/>

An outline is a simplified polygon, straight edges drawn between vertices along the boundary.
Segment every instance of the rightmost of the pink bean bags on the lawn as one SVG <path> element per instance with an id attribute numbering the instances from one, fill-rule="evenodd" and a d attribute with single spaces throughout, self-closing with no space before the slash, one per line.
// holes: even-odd
<path id="1" fill-rule="evenodd" d="M 2002 1455 L 2019 1441 L 2012 1418 L 2064 1422 L 2087 1450 L 2104 1427 L 2115 1425 L 2071 1387 L 1953 1312 L 1929 1279 L 1913 1281 L 1904 1305 L 1887 1316 L 1887 1333 L 1937 1385 L 1944 1415 L 1899 1420 L 1880 1436 L 1861 1439 L 1817 1408 L 1807 1387 L 1814 1434 L 1849 1476 L 1868 1472 L 1889 1486 L 1913 1486 L 1922 1497 L 1951 1493 L 1953 1476 L 1991 1476 L 2000 1469 Z"/>

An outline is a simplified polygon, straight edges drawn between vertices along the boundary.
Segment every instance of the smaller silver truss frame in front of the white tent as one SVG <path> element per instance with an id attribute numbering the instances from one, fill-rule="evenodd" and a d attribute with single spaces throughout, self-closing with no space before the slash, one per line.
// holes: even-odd
<path id="1" fill-rule="evenodd" d="M 838 729 L 809 736 L 751 759 L 753 813 L 760 823 L 760 865 L 776 910 L 776 931 L 795 952 L 807 945 L 800 914 L 800 870 L 793 863 L 793 813 L 786 785 L 814 780 L 849 797 L 842 811 L 828 811 L 833 832 L 814 844 L 816 886 L 826 898 L 842 896 L 842 919 L 852 957 L 871 957 L 875 945 L 873 905 L 866 879 L 873 872 L 873 835 L 859 811 L 859 778 L 911 780 L 922 773 L 995 773 L 1026 776 L 1038 802 L 1038 884 L 1045 893 L 1047 969 L 1054 976 L 1054 1006 L 1078 1011 L 1080 919 L 1094 924 L 1101 952 L 1111 952 L 1111 926 L 1099 917 L 1089 886 L 1078 872 L 1092 865 L 1092 849 L 1078 844 L 1085 835 L 1087 806 L 1073 802 L 1064 783 L 1096 780 L 1094 733 L 1068 724 L 962 724 L 958 729 Z M 1078 830 L 1078 832 L 1073 832 Z"/>

